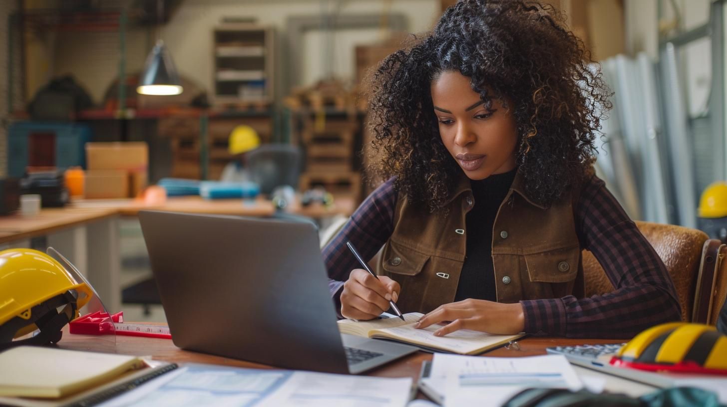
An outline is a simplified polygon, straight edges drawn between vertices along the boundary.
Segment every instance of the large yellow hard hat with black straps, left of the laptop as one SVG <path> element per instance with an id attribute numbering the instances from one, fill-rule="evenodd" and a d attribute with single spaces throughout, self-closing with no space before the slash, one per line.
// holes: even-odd
<path id="1" fill-rule="evenodd" d="M 78 318 L 92 293 L 83 277 L 42 251 L 0 251 L 0 350 L 58 342 L 63 326 Z M 36 329 L 41 332 L 13 341 Z"/>

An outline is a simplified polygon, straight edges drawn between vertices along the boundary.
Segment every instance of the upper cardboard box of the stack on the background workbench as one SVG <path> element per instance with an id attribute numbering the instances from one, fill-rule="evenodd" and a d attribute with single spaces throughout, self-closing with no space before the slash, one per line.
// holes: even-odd
<path id="1" fill-rule="evenodd" d="M 149 166 L 149 148 L 145 142 L 87 142 L 86 158 L 89 171 L 146 171 Z"/>

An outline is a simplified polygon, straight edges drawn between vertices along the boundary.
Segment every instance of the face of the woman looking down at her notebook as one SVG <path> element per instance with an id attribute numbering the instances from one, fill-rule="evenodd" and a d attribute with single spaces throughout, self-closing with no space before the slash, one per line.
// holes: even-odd
<path id="1" fill-rule="evenodd" d="M 442 142 L 470 180 L 515 169 L 518 132 L 512 105 L 505 111 L 493 99 L 486 109 L 470 78 L 449 70 L 432 81 L 432 102 Z"/>

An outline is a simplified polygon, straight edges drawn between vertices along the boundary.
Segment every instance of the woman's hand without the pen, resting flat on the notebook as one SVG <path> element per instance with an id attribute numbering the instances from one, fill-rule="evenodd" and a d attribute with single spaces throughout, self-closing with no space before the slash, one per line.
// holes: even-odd
<path id="1" fill-rule="evenodd" d="M 489 334 L 518 334 L 525 329 L 523 306 L 519 302 L 502 304 L 484 299 L 465 299 L 441 305 L 424 315 L 414 328 L 423 329 L 435 323 L 449 322 L 434 332 L 443 337 L 459 329 Z"/>

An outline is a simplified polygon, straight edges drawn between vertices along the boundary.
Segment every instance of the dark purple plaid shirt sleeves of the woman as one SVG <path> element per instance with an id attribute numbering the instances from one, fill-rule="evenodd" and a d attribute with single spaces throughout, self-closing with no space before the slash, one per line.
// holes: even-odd
<path id="1" fill-rule="evenodd" d="M 338 310 L 343 281 L 360 268 L 346 241 L 364 259 L 374 257 L 393 232 L 397 197 L 392 178 L 366 198 L 324 248 L 329 288 Z M 615 289 L 590 298 L 569 295 L 521 301 L 526 333 L 627 338 L 656 323 L 679 321 L 680 305 L 664 263 L 602 180 L 593 177 L 584 185 L 574 212 L 582 249 L 593 252 Z"/>

